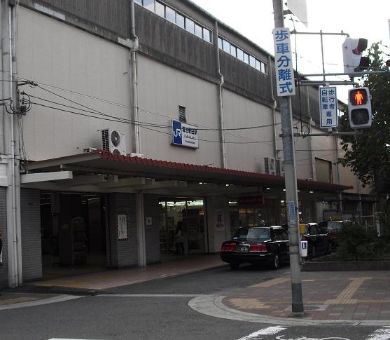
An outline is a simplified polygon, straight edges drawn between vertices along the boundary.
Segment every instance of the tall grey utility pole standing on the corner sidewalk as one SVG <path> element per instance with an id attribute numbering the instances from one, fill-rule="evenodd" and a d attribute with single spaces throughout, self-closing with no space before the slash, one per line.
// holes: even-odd
<path id="1" fill-rule="evenodd" d="M 272 0 L 272 2 L 274 6 L 274 27 L 284 27 L 283 0 Z M 276 76 L 278 76 L 278 74 Z M 302 278 L 300 274 L 298 186 L 295 170 L 291 96 L 281 96 L 279 97 L 279 100 L 281 129 L 283 134 L 286 203 L 288 207 L 288 234 L 290 239 L 292 312 L 294 315 L 303 315 Z"/>

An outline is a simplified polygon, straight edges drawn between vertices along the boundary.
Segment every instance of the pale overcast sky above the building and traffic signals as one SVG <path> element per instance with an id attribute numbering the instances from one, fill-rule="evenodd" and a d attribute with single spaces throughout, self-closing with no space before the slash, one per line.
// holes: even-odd
<path id="1" fill-rule="evenodd" d="M 191 1 L 274 55 L 272 0 Z M 343 31 L 351 38 L 368 39 L 368 46 L 382 41 L 382 50 L 390 55 L 389 0 L 306 0 L 306 4 L 307 27 L 292 15 L 286 16 L 285 27 L 291 30 L 295 28 L 297 32 L 340 33 Z M 323 59 L 326 73 L 344 72 L 341 46 L 345 38 L 346 36 L 343 35 L 323 35 Z M 293 34 L 292 44 L 296 46 L 297 64 L 294 64 L 294 68 L 298 72 L 301 74 L 322 73 L 321 36 L 319 34 Z M 295 58 L 295 54 L 293 57 Z M 311 78 L 311 80 L 314 79 Z M 327 80 L 344 81 L 349 80 L 349 77 L 327 77 Z M 351 86 L 337 86 L 338 99 L 347 102 L 348 88 Z"/>

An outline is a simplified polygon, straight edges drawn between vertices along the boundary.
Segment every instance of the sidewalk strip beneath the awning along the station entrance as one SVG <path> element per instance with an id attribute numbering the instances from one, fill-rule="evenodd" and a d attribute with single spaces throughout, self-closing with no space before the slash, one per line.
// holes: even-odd
<path id="1" fill-rule="evenodd" d="M 224 266 L 219 254 L 182 257 L 162 264 L 142 268 L 126 268 L 66 276 L 52 280 L 39 280 L 15 289 L 0 290 L 0 311 L 9 308 L 43 304 L 60 299 L 60 295 L 93 295 L 112 287 L 132 285 L 158 278 L 180 276 Z"/>

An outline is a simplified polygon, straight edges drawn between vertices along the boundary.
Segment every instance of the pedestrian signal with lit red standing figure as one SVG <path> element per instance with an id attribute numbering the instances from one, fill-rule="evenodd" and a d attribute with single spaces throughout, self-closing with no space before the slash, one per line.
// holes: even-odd
<path id="1" fill-rule="evenodd" d="M 371 127 L 371 98 L 368 88 L 351 88 L 348 90 L 349 126 L 353 129 Z"/>

